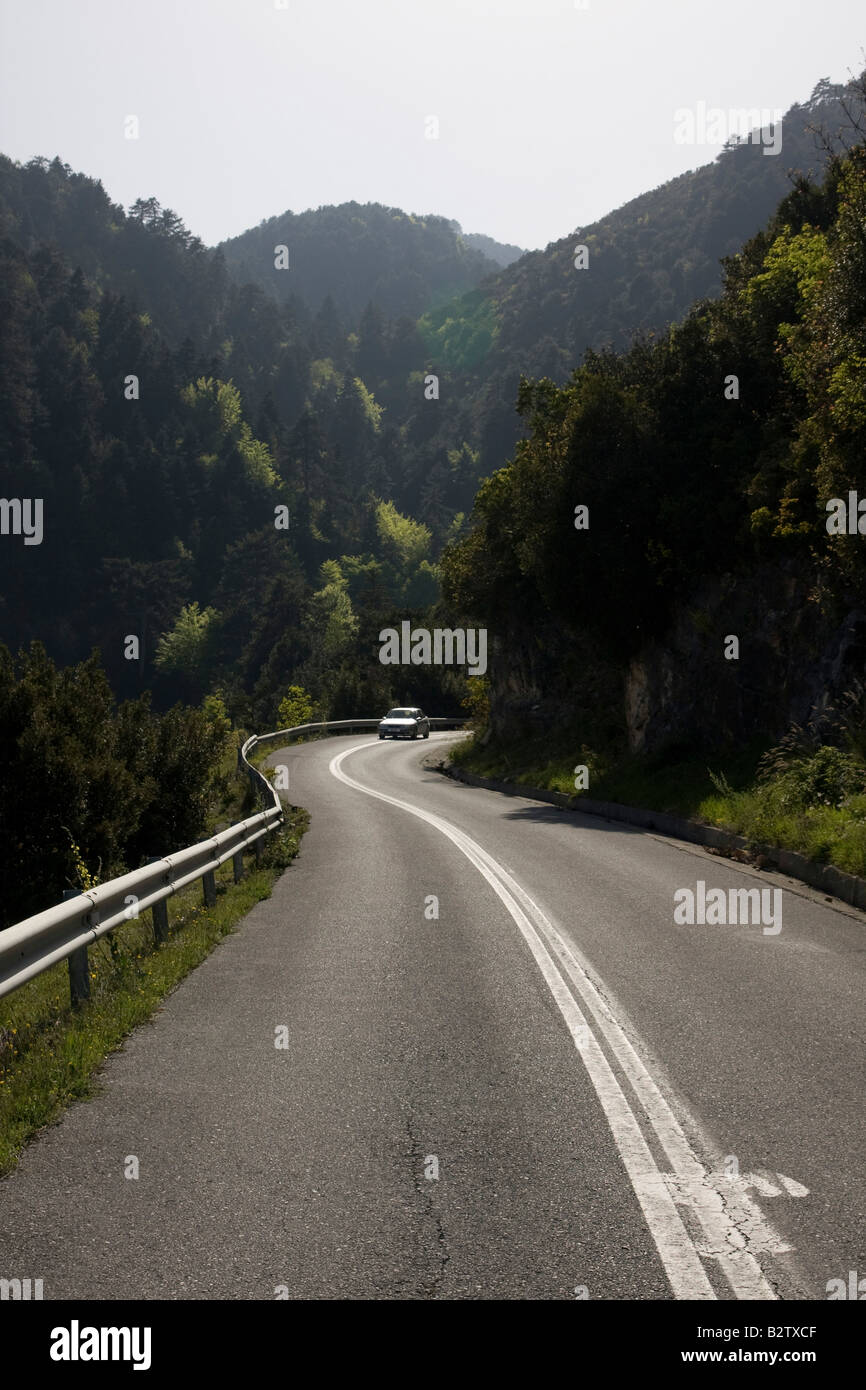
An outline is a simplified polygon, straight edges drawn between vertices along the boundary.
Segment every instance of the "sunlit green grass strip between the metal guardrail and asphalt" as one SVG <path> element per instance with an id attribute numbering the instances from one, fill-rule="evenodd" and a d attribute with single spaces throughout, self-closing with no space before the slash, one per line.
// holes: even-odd
<path id="1" fill-rule="evenodd" d="M 154 945 L 150 913 L 125 923 L 89 951 L 90 1001 L 74 1011 L 65 962 L 0 999 L 0 1175 L 22 1147 L 65 1106 L 93 1090 L 93 1073 L 124 1037 L 149 1019 L 167 994 L 234 931 L 297 853 L 306 810 L 286 806 L 286 821 L 264 841 L 261 865 L 246 858 L 234 883 L 231 860 L 217 872 L 217 902 L 202 905 L 202 884 L 168 898 L 170 934 Z"/>

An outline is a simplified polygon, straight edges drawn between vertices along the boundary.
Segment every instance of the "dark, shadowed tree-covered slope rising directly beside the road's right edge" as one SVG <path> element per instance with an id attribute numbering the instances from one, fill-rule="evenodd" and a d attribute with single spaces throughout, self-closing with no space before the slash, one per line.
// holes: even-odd
<path id="1" fill-rule="evenodd" d="M 500 734 L 703 749 L 855 698 L 863 753 L 865 229 L 860 139 L 717 300 L 566 385 L 524 379 L 530 438 L 442 562 L 495 634 Z"/>

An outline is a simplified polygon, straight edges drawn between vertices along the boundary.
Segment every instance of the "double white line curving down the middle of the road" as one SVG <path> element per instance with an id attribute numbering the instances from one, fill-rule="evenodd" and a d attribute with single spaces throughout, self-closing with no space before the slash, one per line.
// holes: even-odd
<path id="1" fill-rule="evenodd" d="M 375 796 L 377 801 L 417 816 L 446 835 L 487 878 L 517 923 L 595 1087 L 674 1298 L 717 1297 L 703 1261 L 714 1262 L 735 1298 L 776 1298 L 758 1255 L 778 1255 L 791 1247 L 767 1225 L 763 1212 L 742 1186 L 708 1172 L 575 951 L 512 874 L 463 830 L 442 816 L 374 791 L 349 777 L 342 770 L 342 763 L 361 748 L 368 749 L 370 744 L 356 744 L 331 759 L 332 776 L 366 796 Z M 578 999 L 585 1013 L 578 1006 Z M 620 1066 L 631 1091 L 631 1102 L 602 1049 L 601 1038 Z M 659 1169 L 635 1109 L 642 1113 L 644 1123 L 664 1154 L 669 1172 Z M 689 1127 L 696 1130 L 696 1126 Z M 691 1233 L 678 1208 L 689 1213 Z"/>

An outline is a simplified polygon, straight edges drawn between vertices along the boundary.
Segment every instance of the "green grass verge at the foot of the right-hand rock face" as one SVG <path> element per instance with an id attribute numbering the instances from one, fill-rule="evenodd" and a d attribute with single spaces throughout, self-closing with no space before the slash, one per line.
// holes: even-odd
<path id="1" fill-rule="evenodd" d="M 566 742 L 566 746 L 563 746 Z M 535 735 L 518 745 L 482 746 L 474 738 L 452 751 L 452 762 L 482 777 L 564 792 L 580 805 L 574 767 L 589 769 L 584 795 L 702 820 L 744 835 L 755 847 L 792 849 L 817 863 L 866 876 L 866 767 L 844 755 L 848 783 L 816 791 L 822 753 L 802 753 L 767 780 L 758 764 L 767 742 L 727 755 L 670 749 L 641 758 L 596 753 L 578 738 Z M 859 781 L 859 785 L 858 785 Z M 860 792 L 860 794 L 858 794 Z"/>

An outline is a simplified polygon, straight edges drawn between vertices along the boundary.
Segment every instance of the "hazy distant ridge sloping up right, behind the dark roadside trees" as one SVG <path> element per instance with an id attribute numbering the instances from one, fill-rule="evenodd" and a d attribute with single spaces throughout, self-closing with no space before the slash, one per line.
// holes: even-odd
<path id="1" fill-rule="evenodd" d="M 461 299 L 423 316 L 431 370 L 442 377 L 455 428 L 478 450 L 484 474 L 509 457 L 523 374 L 564 382 L 588 348 L 624 349 L 637 332 L 662 332 L 719 292 L 720 260 L 771 215 L 796 174 L 826 165 L 826 132 L 848 131 L 856 85 L 819 82 L 781 122 L 778 154 L 731 143 L 589 227 L 528 252 Z M 575 268 L 578 246 L 585 268 Z M 455 413 L 457 418 L 455 420 Z"/>

